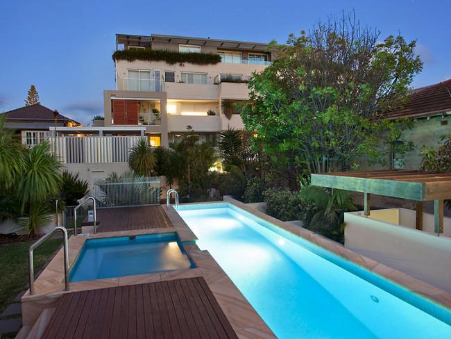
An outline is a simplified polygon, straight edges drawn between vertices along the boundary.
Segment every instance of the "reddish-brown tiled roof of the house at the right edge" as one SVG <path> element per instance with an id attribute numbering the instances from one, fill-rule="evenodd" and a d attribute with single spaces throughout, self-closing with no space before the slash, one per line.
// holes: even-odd
<path id="1" fill-rule="evenodd" d="M 447 111 L 451 111 L 451 79 L 411 92 L 406 104 L 384 113 L 384 117 L 426 117 Z"/>

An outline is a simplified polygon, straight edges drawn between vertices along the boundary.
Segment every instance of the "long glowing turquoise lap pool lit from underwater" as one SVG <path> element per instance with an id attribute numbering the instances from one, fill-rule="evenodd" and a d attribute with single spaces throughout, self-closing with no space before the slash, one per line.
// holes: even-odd
<path id="1" fill-rule="evenodd" d="M 449 311 L 236 206 L 178 213 L 278 338 L 451 338 Z"/>

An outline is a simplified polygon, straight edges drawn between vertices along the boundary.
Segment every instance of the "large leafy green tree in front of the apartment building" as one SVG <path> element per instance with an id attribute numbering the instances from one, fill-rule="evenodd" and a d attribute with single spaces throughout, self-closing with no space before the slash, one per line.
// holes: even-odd
<path id="1" fill-rule="evenodd" d="M 414 48 L 400 35 L 380 40 L 353 13 L 291 35 L 273 65 L 249 83 L 250 104 L 241 112 L 246 129 L 293 183 L 361 157 L 382 163 L 408 126 L 381 113 L 402 104 L 420 72 Z"/>

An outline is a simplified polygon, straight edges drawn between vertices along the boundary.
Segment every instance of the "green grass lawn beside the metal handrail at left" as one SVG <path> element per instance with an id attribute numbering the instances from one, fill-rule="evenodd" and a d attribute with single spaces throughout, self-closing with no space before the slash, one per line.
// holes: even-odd
<path id="1" fill-rule="evenodd" d="M 0 313 L 28 283 L 28 247 L 34 241 L 0 245 Z M 35 274 L 62 245 L 62 238 L 46 240 L 33 251 Z"/>

